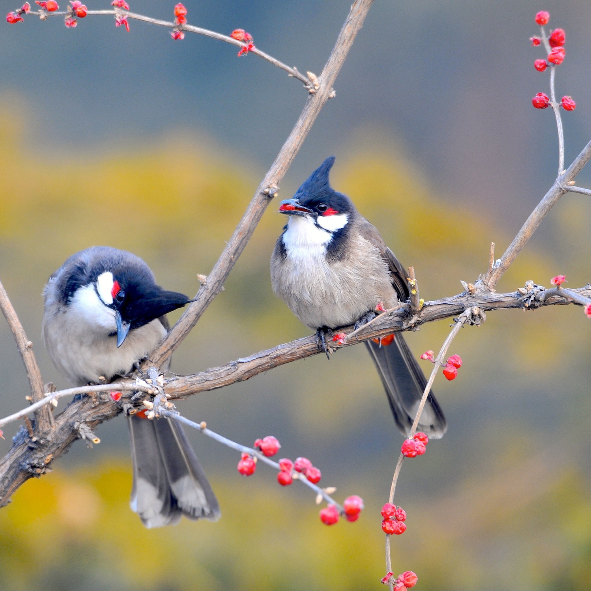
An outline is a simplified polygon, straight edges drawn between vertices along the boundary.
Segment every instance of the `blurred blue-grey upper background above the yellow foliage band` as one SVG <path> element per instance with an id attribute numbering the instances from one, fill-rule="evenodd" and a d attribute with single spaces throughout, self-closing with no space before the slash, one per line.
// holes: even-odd
<path id="1" fill-rule="evenodd" d="M 131 8 L 170 18 L 173 4 L 134 0 Z M 192 24 L 223 33 L 245 28 L 262 50 L 319 73 L 350 2 L 185 4 Z M 12 0 L 2 6 L 16 8 Z M 530 102 L 547 92 L 547 73 L 532 66 L 543 51 L 528 41 L 542 8 L 553 27 L 567 31 L 557 92 L 578 105 L 564 116 L 568 161 L 591 135 L 588 2 L 376 0 L 337 80 L 337 98 L 320 115 L 286 188 L 327 154 L 354 150 L 355 132 L 369 129 L 447 199 L 483 206 L 509 230 L 518 228 L 556 167 L 552 113 Z M 0 51 L 0 92 L 28 113 L 28 141 L 46 154 L 145 145 L 186 130 L 216 149 L 231 148 L 262 173 L 306 99 L 300 83 L 254 56 L 238 59 L 226 44 L 192 34 L 173 43 L 164 28 L 135 21 L 126 33 L 111 17 L 79 20 L 76 30 L 61 18 L 3 24 Z"/>

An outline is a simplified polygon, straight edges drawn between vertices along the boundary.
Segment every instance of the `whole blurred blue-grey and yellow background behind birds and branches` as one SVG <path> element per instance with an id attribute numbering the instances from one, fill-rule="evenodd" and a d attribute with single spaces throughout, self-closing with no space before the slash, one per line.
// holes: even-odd
<path id="1" fill-rule="evenodd" d="M 65 2 L 62 2 L 65 4 Z M 131 8 L 172 17 L 174 2 Z M 262 50 L 320 73 L 349 0 L 187 0 L 189 22 L 245 28 Z M 106 8 L 106 0 L 87 2 Z M 17 5 L 2 1 L 6 12 Z M 63 7 L 62 7 L 63 8 Z M 281 196 L 329 154 L 332 183 L 378 226 L 426 300 L 461 291 L 498 256 L 556 176 L 553 115 L 528 39 L 534 15 L 566 29 L 558 96 L 567 163 L 591 137 L 591 10 L 583 0 L 376 0 L 329 101 L 282 183 Z M 111 17 L 28 17 L 2 24 L 0 277 L 45 381 L 67 384 L 40 343 L 44 282 L 90 245 L 128 249 L 168 289 L 194 294 L 306 100 L 300 83 L 226 44 Z M 590 186 L 590 171 L 578 184 Z M 587 197 L 567 194 L 499 284 L 513 291 L 558 273 L 589 280 Z M 179 374 L 304 336 L 271 291 L 268 261 L 284 219 L 272 204 L 226 289 L 174 355 Z M 172 315 L 176 320 L 177 315 Z M 417 355 L 439 349 L 441 322 L 408 336 Z M 489 313 L 450 353 L 458 378 L 437 392 L 449 430 L 406 462 L 397 500 L 408 530 L 392 539 L 395 573 L 417 589 L 588 589 L 591 577 L 590 326 L 580 307 Z M 427 364 L 428 365 L 428 364 Z M 429 369 L 427 366 L 426 370 Z M 24 368 L 0 322 L 0 415 L 23 407 Z M 58 410 L 64 407 L 60 401 Z M 296 362 L 178 407 L 241 443 L 274 434 L 282 457 L 307 456 L 342 500 L 365 499 L 355 524 L 327 528 L 313 495 L 281 488 L 259 466 L 189 433 L 222 506 L 217 523 L 145 530 L 128 506 L 126 424 L 97 430 L 30 480 L 0 511 L 0 589 L 361 591 L 384 576 L 379 516 L 402 437 L 363 347 Z M 17 424 L 5 428 L 0 453 Z"/>

